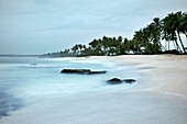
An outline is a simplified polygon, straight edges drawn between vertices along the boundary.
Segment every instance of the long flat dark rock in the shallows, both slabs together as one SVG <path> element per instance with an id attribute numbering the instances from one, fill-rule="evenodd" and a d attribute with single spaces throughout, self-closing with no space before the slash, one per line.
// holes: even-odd
<path id="1" fill-rule="evenodd" d="M 90 69 L 63 69 L 61 74 L 80 74 L 80 75 L 96 75 L 106 74 L 107 71 L 91 71 Z"/>

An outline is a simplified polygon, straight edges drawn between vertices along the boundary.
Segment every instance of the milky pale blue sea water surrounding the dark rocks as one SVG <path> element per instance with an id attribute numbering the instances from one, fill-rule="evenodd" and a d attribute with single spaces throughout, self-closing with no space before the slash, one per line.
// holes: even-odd
<path id="1" fill-rule="evenodd" d="M 61 74 L 62 69 L 106 70 L 107 74 Z M 135 83 L 111 86 L 106 81 L 139 79 L 135 70 L 103 59 L 0 57 L 0 117 L 29 105 L 42 105 L 40 102 L 45 100 L 132 89 Z"/>

